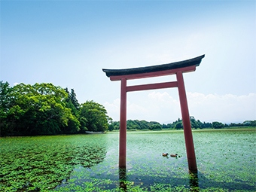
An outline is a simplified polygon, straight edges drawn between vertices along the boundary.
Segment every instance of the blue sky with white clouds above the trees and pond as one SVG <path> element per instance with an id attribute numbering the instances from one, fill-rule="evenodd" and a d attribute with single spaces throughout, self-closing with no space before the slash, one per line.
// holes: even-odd
<path id="1" fill-rule="evenodd" d="M 74 89 L 119 120 L 120 81 L 102 69 L 154 66 L 205 54 L 184 73 L 190 116 L 256 120 L 255 1 L 0 2 L 0 81 Z M 175 81 L 175 75 L 128 85 Z M 127 93 L 127 120 L 181 118 L 177 88 Z"/>

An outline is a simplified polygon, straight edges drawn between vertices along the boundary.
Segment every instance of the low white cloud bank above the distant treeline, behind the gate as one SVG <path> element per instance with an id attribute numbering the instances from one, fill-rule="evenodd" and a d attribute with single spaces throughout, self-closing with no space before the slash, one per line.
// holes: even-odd
<path id="1" fill-rule="evenodd" d="M 190 115 L 206 122 L 218 120 L 224 123 L 256 119 L 256 93 L 236 96 L 187 93 Z M 108 115 L 119 120 L 120 99 L 105 103 Z M 180 103 L 167 92 L 152 91 L 147 98 L 137 97 L 127 101 L 127 119 L 156 120 L 172 123 L 181 117 Z"/>

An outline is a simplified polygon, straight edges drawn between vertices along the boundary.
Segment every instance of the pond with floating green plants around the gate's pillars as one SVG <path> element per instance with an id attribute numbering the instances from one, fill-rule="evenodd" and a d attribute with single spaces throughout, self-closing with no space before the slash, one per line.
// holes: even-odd
<path id="1" fill-rule="evenodd" d="M 194 130 L 190 175 L 183 131 L 0 139 L 0 191 L 256 191 L 256 130 Z M 162 153 L 178 154 L 163 157 Z"/>

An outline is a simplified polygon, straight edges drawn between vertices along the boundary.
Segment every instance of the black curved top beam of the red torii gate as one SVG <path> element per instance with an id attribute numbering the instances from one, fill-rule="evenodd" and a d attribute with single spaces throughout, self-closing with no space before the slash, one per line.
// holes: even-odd
<path id="1" fill-rule="evenodd" d="M 160 72 L 169 69 L 178 69 L 188 66 L 199 66 L 201 60 L 205 57 L 205 55 L 197 56 L 193 59 L 187 59 L 179 62 L 171 62 L 167 64 L 157 65 L 157 66 L 146 66 L 146 67 L 138 67 L 138 68 L 130 68 L 130 69 L 102 69 L 103 72 L 108 77 L 117 76 L 117 75 L 133 75 L 140 73 L 148 73 L 148 72 Z"/>

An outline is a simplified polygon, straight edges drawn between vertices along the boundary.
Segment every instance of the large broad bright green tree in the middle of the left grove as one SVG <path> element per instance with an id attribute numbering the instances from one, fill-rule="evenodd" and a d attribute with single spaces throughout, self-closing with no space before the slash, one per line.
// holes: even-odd
<path id="1" fill-rule="evenodd" d="M 52 135 L 62 133 L 72 124 L 71 132 L 79 130 L 79 122 L 66 107 L 68 94 L 53 84 L 17 84 L 10 93 L 12 102 L 8 120 L 14 135 Z"/>

